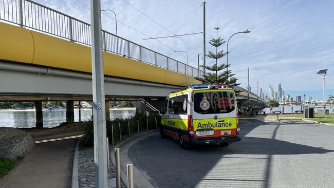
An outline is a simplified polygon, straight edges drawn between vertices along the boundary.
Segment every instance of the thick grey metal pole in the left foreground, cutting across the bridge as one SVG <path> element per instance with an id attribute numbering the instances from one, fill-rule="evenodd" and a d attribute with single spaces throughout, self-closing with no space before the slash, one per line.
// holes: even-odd
<path id="1" fill-rule="evenodd" d="M 90 22 L 95 187 L 104 188 L 108 186 L 108 173 L 100 0 L 90 0 Z"/>

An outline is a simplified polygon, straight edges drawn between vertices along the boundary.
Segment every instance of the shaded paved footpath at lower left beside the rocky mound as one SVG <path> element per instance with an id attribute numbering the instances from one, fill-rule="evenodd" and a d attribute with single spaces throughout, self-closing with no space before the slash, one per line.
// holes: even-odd
<path id="1" fill-rule="evenodd" d="M 0 187 L 71 187 L 76 140 L 36 144 L 36 147 L 2 180 Z"/>

